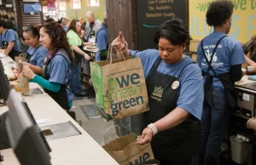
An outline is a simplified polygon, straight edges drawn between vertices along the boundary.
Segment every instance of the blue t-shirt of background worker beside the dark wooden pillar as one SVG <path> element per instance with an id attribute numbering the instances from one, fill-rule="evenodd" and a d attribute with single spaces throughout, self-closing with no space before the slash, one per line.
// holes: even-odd
<path id="1" fill-rule="evenodd" d="M 99 50 L 96 53 L 96 61 L 101 60 L 100 51 L 108 50 L 108 28 L 102 24 L 96 33 L 96 44 Z"/>

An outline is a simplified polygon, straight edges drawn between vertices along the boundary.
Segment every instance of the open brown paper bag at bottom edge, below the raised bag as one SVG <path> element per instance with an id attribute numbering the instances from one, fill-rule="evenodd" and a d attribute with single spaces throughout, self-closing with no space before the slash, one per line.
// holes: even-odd
<path id="1" fill-rule="evenodd" d="M 120 165 L 138 164 L 154 159 L 151 145 L 149 143 L 139 145 L 136 139 L 137 136 L 135 134 L 128 134 L 119 139 L 113 139 L 102 147 Z"/>

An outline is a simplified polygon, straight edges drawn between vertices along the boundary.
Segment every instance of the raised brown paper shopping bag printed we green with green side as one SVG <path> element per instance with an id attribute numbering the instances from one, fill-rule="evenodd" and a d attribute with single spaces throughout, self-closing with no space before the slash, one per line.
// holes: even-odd
<path id="1" fill-rule="evenodd" d="M 97 112 L 107 121 L 149 110 L 148 92 L 140 58 L 90 62 Z"/>

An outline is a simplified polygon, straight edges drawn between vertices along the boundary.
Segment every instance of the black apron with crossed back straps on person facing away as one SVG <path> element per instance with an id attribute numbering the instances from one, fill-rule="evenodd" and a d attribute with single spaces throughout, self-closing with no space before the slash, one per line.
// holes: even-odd
<path id="1" fill-rule="evenodd" d="M 227 37 L 227 36 L 224 36 L 224 37 Z M 215 54 L 215 52 L 218 48 L 218 44 L 221 42 L 222 39 L 224 39 L 224 37 L 221 37 L 218 39 L 218 42 L 217 42 L 215 48 L 213 49 L 212 54 Z M 235 83 L 232 82 L 232 80 L 231 80 L 231 73 L 227 72 L 227 73 L 222 73 L 222 74 L 217 75 L 217 73 L 212 68 L 213 55 L 211 56 L 211 60 L 209 61 L 207 59 L 207 55 L 203 48 L 203 40 L 201 41 L 201 51 L 202 51 L 202 54 L 204 55 L 205 60 L 207 61 L 207 65 L 208 65 L 207 72 L 202 71 L 202 76 L 206 77 L 206 81 L 204 84 L 204 93 L 205 93 L 204 106 L 207 106 L 209 108 L 212 107 L 212 83 L 213 83 L 213 78 L 217 77 L 219 79 L 219 81 L 224 86 L 224 91 L 226 94 L 228 105 L 230 106 L 230 108 L 234 108 L 236 106 L 236 103 L 238 100 L 238 93 L 235 88 Z M 214 76 L 211 76 L 209 74 L 210 70 L 213 72 Z"/>

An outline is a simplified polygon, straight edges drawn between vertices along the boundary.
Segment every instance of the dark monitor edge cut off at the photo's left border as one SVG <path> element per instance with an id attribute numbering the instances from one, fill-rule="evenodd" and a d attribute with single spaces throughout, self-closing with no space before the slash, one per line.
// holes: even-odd
<path id="1" fill-rule="evenodd" d="M 0 105 L 6 104 L 9 90 L 9 81 L 4 73 L 3 63 L 0 60 Z"/>

